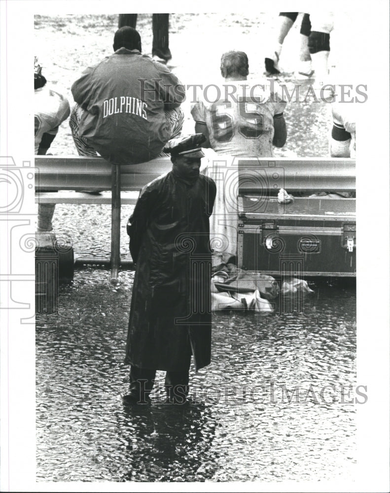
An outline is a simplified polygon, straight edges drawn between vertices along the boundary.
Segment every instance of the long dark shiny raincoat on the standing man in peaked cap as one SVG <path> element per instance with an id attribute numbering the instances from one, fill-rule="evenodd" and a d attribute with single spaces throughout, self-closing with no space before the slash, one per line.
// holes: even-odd
<path id="1" fill-rule="evenodd" d="M 216 187 L 171 171 L 146 185 L 129 219 L 136 274 L 125 362 L 140 368 L 199 369 L 211 360 L 209 216 Z"/>

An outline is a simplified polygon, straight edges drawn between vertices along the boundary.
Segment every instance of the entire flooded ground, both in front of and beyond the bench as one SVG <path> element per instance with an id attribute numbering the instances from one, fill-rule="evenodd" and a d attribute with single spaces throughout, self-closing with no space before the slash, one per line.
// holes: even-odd
<path id="1" fill-rule="evenodd" d="M 150 17 L 140 15 L 138 23 L 145 53 Z M 248 53 L 254 77 L 263 76 L 274 21 L 261 13 L 172 15 L 174 70 L 184 83 L 201 83 L 200 72 L 218 82 L 220 55 L 233 47 Z M 43 73 L 70 102 L 79 71 L 111 53 L 116 22 L 116 15 L 35 18 Z M 281 59 L 290 89 L 298 24 Z M 277 156 L 328 155 L 329 105 L 291 104 L 285 119 L 287 142 Z M 184 127 L 193 130 L 189 106 Z M 75 154 L 68 122 L 50 152 Z M 122 208 L 122 257 L 131 210 Z M 106 256 L 109 213 L 109 206 L 58 205 L 54 230 L 71 237 L 76 256 Z M 108 279 L 104 270 L 76 271 L 73 284 L 60 287 L 58 315 L 37 320 L 37 481 L 352 481 L 354 286 L 310 284 L 315 293 L 303 313 L 214 315 L 212 364 L 190 377 L 194 404 L 164 405 L 158 372 L 152 405 L 131 410 L 120 393 L 128 387 L 123 357 L 133 273 L 120 273 L 116 287 Z"/>

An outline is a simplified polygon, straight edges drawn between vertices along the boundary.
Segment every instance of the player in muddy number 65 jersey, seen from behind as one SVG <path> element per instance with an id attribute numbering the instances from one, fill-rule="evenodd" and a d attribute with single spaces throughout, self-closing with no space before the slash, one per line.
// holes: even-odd
<path id="1" fill-rule="evenodd" d="M 224 53 L 220 69 L 225 83 L 206 86 L 191 109 L 195 132 L 208 138 L 204 147 L 232 156 L 273 156 L 273 145 L 283 147 L 287 137 L 286 103 L 276 82 L 247 80 L 248 57 L 242 51 Z"/>

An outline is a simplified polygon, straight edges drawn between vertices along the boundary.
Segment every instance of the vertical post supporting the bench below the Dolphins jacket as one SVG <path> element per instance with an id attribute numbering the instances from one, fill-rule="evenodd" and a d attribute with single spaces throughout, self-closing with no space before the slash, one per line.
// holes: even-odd
<path id="1" fill-rule="evenodd" d="M 111 186 L 111 284 L 118 282 L 120 245 L 120 166 L 112 165 Z"/>

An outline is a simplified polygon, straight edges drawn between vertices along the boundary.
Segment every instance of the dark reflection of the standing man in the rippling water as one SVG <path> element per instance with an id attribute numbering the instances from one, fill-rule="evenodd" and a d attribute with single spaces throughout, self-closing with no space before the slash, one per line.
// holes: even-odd
<path id="1" fill-rule="evenodd" d="M 124 407 L 118 429 L 127 440 L 127 471 L 121 481 L 204 481 L 216 423 L 210 409 L 159 404 Z"/>

